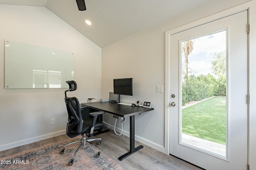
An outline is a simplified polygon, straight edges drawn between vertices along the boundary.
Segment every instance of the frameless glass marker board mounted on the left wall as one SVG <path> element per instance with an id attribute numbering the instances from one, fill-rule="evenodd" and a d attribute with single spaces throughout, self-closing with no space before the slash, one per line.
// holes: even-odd
<path id="1" fill-rule="evenodd" d="M 57 49 L 5 40 L 4 86 L 10 88 L 68 88 L 74 80 L 73 54 Z"/>

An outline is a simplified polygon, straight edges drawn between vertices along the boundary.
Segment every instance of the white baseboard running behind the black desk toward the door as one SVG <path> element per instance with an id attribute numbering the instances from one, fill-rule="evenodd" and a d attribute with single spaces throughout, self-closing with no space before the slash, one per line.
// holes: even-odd
<path id="1" fill-rule="evenodd" d="M 106 123 L 106 122 L 103 122 L 103 123 L 105 123 L 105 126 L 108 127 L 109 129 L 114 130 L 114 126 L 113 126 L 113 125 L 110 125 L 110 124 L 108 124 L 108 123 Z M 121 129 L 116 128 L 116 132 L 120 133 L 121 131 L 122 131 Z M 127 131 L 123 131 L 122 135 L 125 135 L 125 136 L 130 137 L 130 133 L 127 132 Z M 155 143 L 152 143 L 152 142 L 150 142 L 150 141 L 148 141 L 148 140 L 146 140 L 146 139 L 143 139 L 143 138 L 141 138 L 141 137 L 138 137 L 138 136 L 136 136 L 136 135 L 135 135 L 135 140 L 138 141 L 138 142 L 140 142 L 140 143 L 143 143 L 144 145 L 147 145 L 147 146 L 149 146 L 149 147 L 152 147 L 153 149 L 156 149 L 156 150 L 159 150 L 160 152 L 165 153 L 164 147 L 162 147 L 162 146 L 160 146 L 160 145 L 157 145 L 157 144 L 155 144 Z"/>

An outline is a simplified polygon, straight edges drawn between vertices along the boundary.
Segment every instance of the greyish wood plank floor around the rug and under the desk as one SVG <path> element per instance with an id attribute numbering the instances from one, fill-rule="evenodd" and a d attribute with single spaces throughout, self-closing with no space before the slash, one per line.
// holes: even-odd
<path id="1" fill-rule="evenodd" d="M 144 148 L 138 150 L 134 154 L 120 161 L 118 160 L 118 157 L 129 151 L 129 137 L 126 137 L 124 135 L 117 136 L 112 130 L 97 135 L 96 137 L 102 138 L 102 143 L 99 146 L 100 150 L 108 155 L 110 158 L 115 160 L 125 170 L 200 170 L 199 168 L 192 166 L 182 160 L 179 160 L 178 158 L 166 155 L 137 141 L 135 142 L 135 147 L 137 147 L 138 145 L 143 145 Z M 13 149 L 4 150 L 0 152 L 0 158 L 10 156 L 24 150 L 40 147 L 48 143 L 54 143 L 67 138 L 67 135 L 60 135 L 58 137 L 53 137 Z M 75 148 L 77 147 L 77 145 L 73 146 Z M 71 156 L 72 155 L 70 155 L 70 157 Z"/>

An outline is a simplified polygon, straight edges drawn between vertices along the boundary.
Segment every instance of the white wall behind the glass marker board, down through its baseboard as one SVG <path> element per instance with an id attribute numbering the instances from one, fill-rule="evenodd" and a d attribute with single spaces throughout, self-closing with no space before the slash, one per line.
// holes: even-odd
<path id="1" fill-rule="evenodd" d="M 73 52 L 81 103 L 101 97 L 100 47 L 43 7 L 0 5 L 0 21 L 0 150 L 64 134 L 66 89 L 4 89 L 4 39 Z"/>

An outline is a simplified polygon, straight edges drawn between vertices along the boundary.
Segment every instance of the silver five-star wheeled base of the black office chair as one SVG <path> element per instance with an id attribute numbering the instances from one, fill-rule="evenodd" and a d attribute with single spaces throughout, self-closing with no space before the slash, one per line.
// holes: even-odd
<path id="1" fill-rule="evenodd" d="M 99 149 L 99 152 L 95 155 L 96 158 L 98 158 L 100 156 L 100 148 L 97 147 L 96 145 L 94 145 L 93 143 L 91 143 L 91 141 L 99 141 L 97 144 L 100 145 L 101 144 L 101 141 L 102 139 L 101 138 L 92 138 L 92 139 L 86 139 L 86 134 L 84 133 L 82 136 L 82 139 L 80 141 L 76 141 L 76 142 L 72 142 L 72 143 L 69 143 L 67 145 L 64 145 L 63 146 L 63 149 L 60 151 L 60 154 L 63 154 L 64 153 L 64 150 L 67 146 L 69 145 L 73 145 L 75 143 L 80 143 L 80 145 L 78 146 L 78 148 L 76 149 L 76 151 L 74 152 L 74 154 L 72 155 L 72 159 L 68 162 L 68 165 L 71 166 L 73 164 L 73 161 L 74 161 L 74 156 L 76 155 L 76 153 L 78 152 L 78 150 L 82 147 L 82 148 L 85 148 L 86 147 L 86 142 L 92 144 L 94 147 L 98 148 Z"/>

